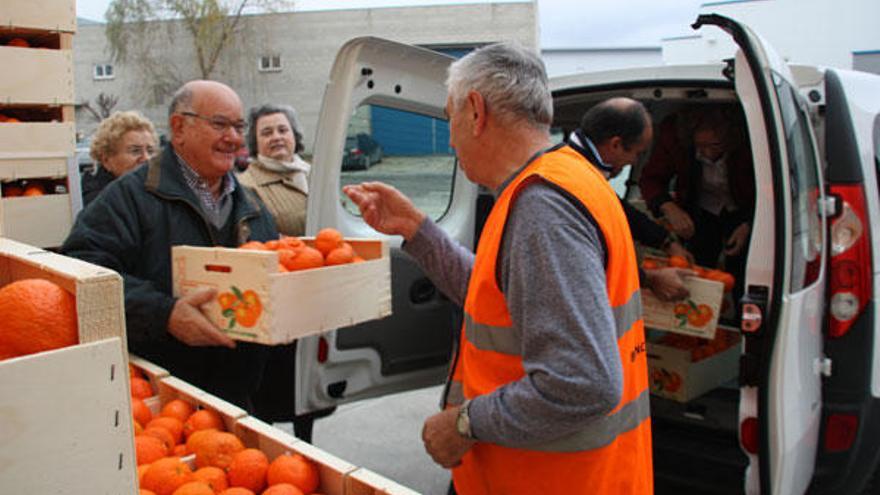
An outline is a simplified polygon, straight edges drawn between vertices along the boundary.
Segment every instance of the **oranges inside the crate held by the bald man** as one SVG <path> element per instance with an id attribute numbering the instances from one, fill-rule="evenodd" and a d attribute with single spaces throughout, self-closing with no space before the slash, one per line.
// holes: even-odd
<path id="1" fill-rule="evenodd" d="M 278 269 L 282 272 L 364 261 L 355 253 L 351 244 L 345 242 L 342 233 L 333 228 L 322 229 L 318 232 L 313 245 L 314 247 L 309 246 L 298 237 L 282 236 L 277 241 L 246 242 L 239 246 L 239 249 L 277 252 Z"/>

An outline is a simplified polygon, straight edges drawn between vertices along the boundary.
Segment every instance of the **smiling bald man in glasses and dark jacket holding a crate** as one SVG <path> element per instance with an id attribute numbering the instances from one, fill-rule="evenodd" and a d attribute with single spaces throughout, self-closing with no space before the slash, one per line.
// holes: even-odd
<path id="1" fill-rule="evenodd" d="M 230 172 L 245 131 L 228 86 L 192 81 L 174 95 L 171 143 L 107 186 L 77 217 L 62 251 L 124 279 L 129 349 L 206 391 L 251 410 L 266 347 L 237 345 L 199 306 L 202 290 L 175 298 L 171 247 L 237 246 L 277 238 L 269 213 Z"/>

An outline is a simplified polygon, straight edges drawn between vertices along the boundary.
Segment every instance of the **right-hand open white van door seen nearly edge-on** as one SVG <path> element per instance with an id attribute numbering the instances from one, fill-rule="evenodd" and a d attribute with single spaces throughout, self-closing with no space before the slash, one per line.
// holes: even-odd
<path id="1" fill-rule="evenodd" d="M 746 267 L 740 442 L 746 492 L 804 493 L 822 412 L 825 204 L 815 138 L 788 66 L 746 26 L 701 15 L 739 45 L 733 62 L 755 163 Z"/>

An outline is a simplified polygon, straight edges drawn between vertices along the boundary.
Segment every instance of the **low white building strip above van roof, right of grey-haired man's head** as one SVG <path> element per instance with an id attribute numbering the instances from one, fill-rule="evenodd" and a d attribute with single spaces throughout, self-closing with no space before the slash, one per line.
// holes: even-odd
<path id="1" fill-rule="evenodd" d="M 550 77 L 661 65 L 663 56 L 659 46 L 643 48 L 572 48 L 541 50 L 541 58 Z"/>

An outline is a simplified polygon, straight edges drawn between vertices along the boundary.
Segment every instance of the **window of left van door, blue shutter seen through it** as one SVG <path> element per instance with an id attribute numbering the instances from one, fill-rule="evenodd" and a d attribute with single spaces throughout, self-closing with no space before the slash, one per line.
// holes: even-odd
<path id="1" fill-rule="evenodd" d="M 399 189 L 433 220 L 452 198 L 455 154 L 449 123 L 440 118 L 379 105 L 361 105 L 348 124 L 340 186 L 381 181 Z M 358 208 L 341 195 L 345 209 Z"/>

